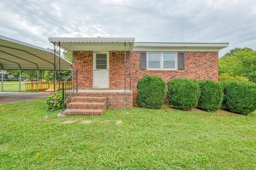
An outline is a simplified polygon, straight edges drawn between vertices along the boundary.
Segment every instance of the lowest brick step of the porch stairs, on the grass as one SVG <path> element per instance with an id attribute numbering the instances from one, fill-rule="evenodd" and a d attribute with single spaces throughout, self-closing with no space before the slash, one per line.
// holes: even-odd
<path id="1" fill-rule="evenodd" d="M 102 115 L 104 109 L 66 109 L 65 115 Z"/>

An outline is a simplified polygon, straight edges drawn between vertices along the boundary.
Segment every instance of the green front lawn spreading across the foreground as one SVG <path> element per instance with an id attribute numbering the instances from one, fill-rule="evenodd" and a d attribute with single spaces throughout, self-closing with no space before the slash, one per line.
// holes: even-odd
<path id="1" fill-rule="evenodd" d="M 0 169 L 256 169 L 255 112 L 58 113 L 44 99 L 0 106 Z"/>

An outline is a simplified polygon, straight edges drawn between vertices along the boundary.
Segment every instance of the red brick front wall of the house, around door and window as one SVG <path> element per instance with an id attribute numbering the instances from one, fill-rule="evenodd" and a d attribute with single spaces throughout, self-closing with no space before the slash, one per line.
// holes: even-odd
<path id="1" fill-rule="evenodd" d="M 115 56 L 112 54 L 115 53 Z M 145 74 L 159 75 L 166 82 L 172 78 L 212 79 L 218 81 L 218 52 L 185 52 L 185 70 L 140 70 L 140 52 L 132 52 L 131 80 L 133 101 L 137 82 Z M 130 88 L 129 52 L 126 53 L 126 88 Z M 78 69 L 78 88 L 93 88 L 93 52 L 74 51 L 73 70 Z M 124 89 L 124 52 L 109 52 L 109 89 Z"/>

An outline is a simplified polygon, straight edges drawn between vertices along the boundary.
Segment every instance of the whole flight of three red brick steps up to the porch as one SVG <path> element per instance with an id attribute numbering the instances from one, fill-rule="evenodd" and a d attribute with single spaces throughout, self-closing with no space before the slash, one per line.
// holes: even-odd
<path id="1" fill-rule="evenodd" d="M 63 114 L 66 115 L 102 115 L 106 109 L 106 97 L 83 97 L 77 96 L 70 99 L 67 109 Z"/>

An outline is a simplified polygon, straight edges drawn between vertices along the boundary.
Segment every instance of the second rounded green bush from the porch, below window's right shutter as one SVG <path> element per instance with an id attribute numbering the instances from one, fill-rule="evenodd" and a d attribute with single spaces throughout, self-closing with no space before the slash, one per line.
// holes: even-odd
<path id="1" fill-rule="evenodd" d="M 171 79 L 167 83 L 169 104 L 182 110 L 190 110 L 197 105 L 200 89 L 195 80 Z"/>

